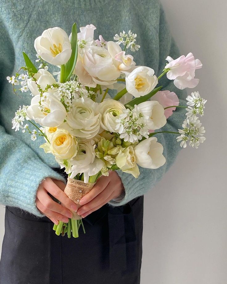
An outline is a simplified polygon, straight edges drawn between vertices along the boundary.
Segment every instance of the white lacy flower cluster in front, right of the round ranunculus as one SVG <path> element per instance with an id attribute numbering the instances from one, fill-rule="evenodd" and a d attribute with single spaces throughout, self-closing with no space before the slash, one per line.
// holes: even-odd
<path id="1" fill-rule="evenodd" d="M 147 127 L 147 119 L 149 118 L 145 117 L 135 105 L 132 111 L 126 109 L 126 111 L 116 119 L 116 131 L 125 142 L 138 142 L 142 137 L 148 138 L 149 127 Z"/>

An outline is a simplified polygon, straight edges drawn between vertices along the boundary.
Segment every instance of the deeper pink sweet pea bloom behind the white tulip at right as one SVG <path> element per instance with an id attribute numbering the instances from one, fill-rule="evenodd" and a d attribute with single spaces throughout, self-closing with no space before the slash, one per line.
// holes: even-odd
<path id="1" fill-rule="evenodd" d="M 151 97 L 151 101 L 158 101 L 163 108 L 167 106 L 178 106 L 179 99 L 174 92 L 170 91 L 159 91 L 154 96 Z M 167 108 L 164 112 L 166 118 L 169 118 L 173 111 L 175 111 L 175 107 Z M 151 133 L 151 132 L 150 132 Z"/>

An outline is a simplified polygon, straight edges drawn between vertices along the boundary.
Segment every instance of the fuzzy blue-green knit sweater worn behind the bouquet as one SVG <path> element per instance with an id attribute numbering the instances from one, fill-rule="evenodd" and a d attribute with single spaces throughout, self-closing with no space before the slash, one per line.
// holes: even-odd
<path id="1" fill-rule="evenodd" d="M 115 33 L 132 30 L 137 33 L 138 52 L 132 53 L 138 65 L 153 68 L 159 76 L 169 55 L 180 54 L 167 27 L 166 19 L 156 0 L 0 0 L 0 203 L 20 207 L 37 216 L 43 216 L 35 205 L 37 188 L 46 177 L 64 181 L 53 168 L 59 167 L 54 156 L 45 154 L 39 145 L 43 138 L 31 141 L 27 134 L 11 129 L 11 119 L 19 105 L 29 105 L 31 96 L 13 94 L 6 76 L 15 74 L 24 66 L 22 52 L 35 62 L 34 40 L 49 27 L 61 27 L 70 34 L 72 24 L 94 24 L 95 37 L 101 34 L 105 40 L 113 40 Z M 50 71 L 58 71 L 53 68 Z M 168 81 L 160 80 L 165 90 L 175 91 L 180 104 L 185 105 L 185 94 Z M 163 130 L 175 131 L 184 120 L 185 110 L 178 108 L 168 119 Z M 135 179 L 118 170 L 126 194 L 121 202 L 111 201 L 113 206 L 123 205 L 131 199 L 151 190 L 175 160 L 180 145 L 175 135 L 158 134 L 164 147 L 166 164 L 159 169 L 140 168 Z"/>

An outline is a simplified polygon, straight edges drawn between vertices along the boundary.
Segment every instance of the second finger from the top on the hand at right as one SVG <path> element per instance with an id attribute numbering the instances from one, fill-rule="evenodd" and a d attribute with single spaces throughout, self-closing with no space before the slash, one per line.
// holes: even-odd
<path id="1" fill-rule="evenodd" d="M 82 207 L 80 207 L 77 210 L 77 213 L 79 215 L 83 215 L 86 212 L 93 212 L 100 206 L 100 204 L 104 205 L 105 203 L 107 203 L 109 200 L 111 200 L 111 196 L 114 195 L 114 190 L 113 190 L 113 186 L 110 186 L 109 184 L 106 186 L 106 188 L 104 190 L 101 191 L 100 194 L 98 194 L 95 198 L 93 198 L 90 202 L 86 203 L 85 205 L 83 205 Z M 108 200 L 109 199 L 109 200 Z M 108 200 L 108 201 L 106 201 Z M 101 206 L 100 206 L 101 207 Z M 99 207 L 99 208 L 100 208 Z"/>

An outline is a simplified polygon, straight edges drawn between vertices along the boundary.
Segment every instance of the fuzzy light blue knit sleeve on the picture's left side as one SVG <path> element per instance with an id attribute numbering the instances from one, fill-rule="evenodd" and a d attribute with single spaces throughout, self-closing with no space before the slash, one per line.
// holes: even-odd
<path id="1" fill-rule="evenodd" d="M 6 76 L 14 69 L 14 48 L 0 19 L 0 98 L 6 96 Z M 12 95 L 12 94 L 10 94 Z M 0 100 L 1 103 L 1 100 Z M 1 114 L 0 114 L 1 115 Z M 0 203 L 19 207 L 36 216 L 44 216 L 36 207 L 39 184 L 51 177 L 65 182 L 64 177 L 43 163 L 36 153 L 13 135 L 6 133 L 0 119 Z"/>

